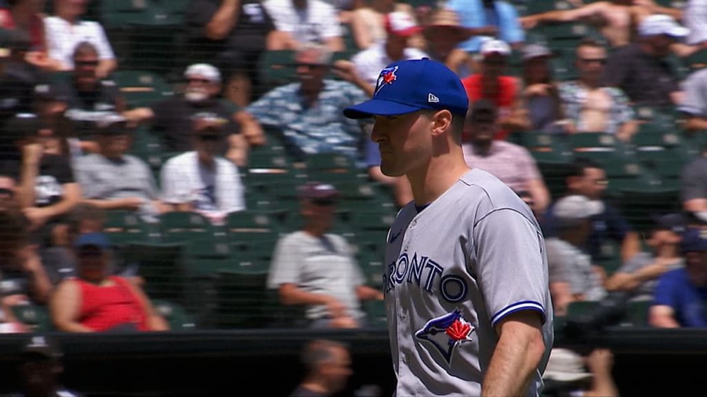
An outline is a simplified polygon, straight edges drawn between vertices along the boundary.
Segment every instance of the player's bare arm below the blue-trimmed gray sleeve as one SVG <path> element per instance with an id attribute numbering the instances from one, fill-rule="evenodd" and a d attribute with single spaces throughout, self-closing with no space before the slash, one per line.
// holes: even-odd
<path id="1" fill-rule="evenodd" d="M 499 334 L 481 396 L 523 396 L 545 352 L 542 315 L 527 309 L 506 315 L 496 324 Z"/>

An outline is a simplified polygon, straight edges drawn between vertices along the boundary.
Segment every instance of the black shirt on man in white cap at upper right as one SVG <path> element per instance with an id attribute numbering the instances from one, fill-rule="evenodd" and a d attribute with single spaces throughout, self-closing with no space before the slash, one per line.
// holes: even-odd
<path id="1" fill-rule="evenodd" d="M 632 102 L 641 105 L 670 105 L 670 93 L 680 90 L 672 67 L 653 57 L 637 44 L 615 49 L 604 69 L 604 85 L 619 87 Z"/>

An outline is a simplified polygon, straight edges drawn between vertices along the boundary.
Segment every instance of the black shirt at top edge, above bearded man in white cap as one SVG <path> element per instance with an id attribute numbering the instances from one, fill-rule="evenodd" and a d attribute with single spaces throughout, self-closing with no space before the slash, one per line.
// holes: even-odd
<path id="1" fill-rule="evenodd" d="M 216 54 L 228 51 L 262 52 L 267 35 L 275 30 L 269 13 L 258 0 L 240 3 L 238 20 L 225 40 L 214 41 L 204 37 L 204 29 L 221 6 L 221 0 L 192 0 L 187 8 L 189 27 L 189 53 L 196 61 L 208 61 Z"/>

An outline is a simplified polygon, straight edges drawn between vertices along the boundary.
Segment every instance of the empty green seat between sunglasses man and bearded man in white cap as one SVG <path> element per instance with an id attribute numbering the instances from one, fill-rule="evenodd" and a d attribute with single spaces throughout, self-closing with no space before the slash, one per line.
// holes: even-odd
<path id="1" fill-rule="evenodd" d="M 169 83 L 153 71 L 119 69 L 112 73 L 129 108 L 148 107 L 173 94 Z"/>

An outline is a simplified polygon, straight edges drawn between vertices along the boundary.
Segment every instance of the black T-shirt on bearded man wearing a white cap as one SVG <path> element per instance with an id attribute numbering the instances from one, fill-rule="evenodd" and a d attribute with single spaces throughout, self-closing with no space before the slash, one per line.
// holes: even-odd
<path id="1" fill-rule="evenodd" d="M 165 149 L 170 152 L 193 150 L 189 141 L 192 120 L 197 114 L 226 119 L 226 135 L 239 134 L 240 127 L 233 121 L 233 109 L 219 100 L 189 102 L 181 95 L 156 102 L 152 106 L 154 117 L 151 131 L 162 138 Z"/>

